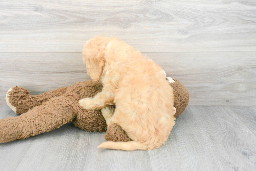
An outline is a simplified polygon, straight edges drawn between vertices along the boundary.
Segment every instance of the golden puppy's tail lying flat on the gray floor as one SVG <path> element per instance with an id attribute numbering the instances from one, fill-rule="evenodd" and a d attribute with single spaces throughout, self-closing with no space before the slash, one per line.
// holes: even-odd
<path id="1" fill-rule="evenodd" d="M 140 143 L 138 141 L 127 141 L 127 142 L 106 141 L 100 144 L 97 148 L 126 150 L 126 151 L 148 150 L 148 146 L 146 144 Z"/>

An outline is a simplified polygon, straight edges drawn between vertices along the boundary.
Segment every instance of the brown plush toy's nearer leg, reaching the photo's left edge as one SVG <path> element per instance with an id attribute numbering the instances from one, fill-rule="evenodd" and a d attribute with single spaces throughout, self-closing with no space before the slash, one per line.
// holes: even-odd
<path id="1" fill-rule="evenodd" d="M 59 128 L 71 122 L 76 113 L 69 105 L 78 103 L 73 96 L 63 95 L 36 106 L 17 117 L 0 120 L 0 142 L 24 139 Z"/>

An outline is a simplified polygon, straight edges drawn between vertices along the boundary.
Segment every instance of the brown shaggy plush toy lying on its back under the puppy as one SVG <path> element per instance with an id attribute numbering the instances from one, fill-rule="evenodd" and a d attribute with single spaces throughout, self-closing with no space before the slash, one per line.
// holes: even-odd
<path id="1" fill-rule="evenodd" d="M 174 116 L 177 117 L 185 110 L 189 93 L 177 79 L 173 79 L 175 82 L 169 79 L 174 92 L 174 107 L 177 109 Z M 107 129 L 104 136 L 107 141 L 131 141 L 119 125 L 112 124 L 107 128 L 101 112 L 113 112 L 113 107 L 92 111 L 78 104 L 80 99 L 94 97 L 102 87 L 99 81 L 87 80 L 40 95 L 30 95 L 24 87 L 9 89 L 6 94 L 7 104 L 16 114 L 21 115 L 0 120 L 0 142 L 49 132 L 71 121 L 85 131 L 104 132 Z"/>

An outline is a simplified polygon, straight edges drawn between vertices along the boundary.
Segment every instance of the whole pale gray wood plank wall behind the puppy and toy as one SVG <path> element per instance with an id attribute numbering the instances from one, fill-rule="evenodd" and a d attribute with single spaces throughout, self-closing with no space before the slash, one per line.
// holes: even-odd
<path id="1" fill-rule="evenodd" d="M 42 93 L 89 79 L 80 53 L 100 34 L 182 81 L 189 105 L 256 105 L 255 30 L 253 0 L 2 0 L 0 105 L 14 85 Z"/>

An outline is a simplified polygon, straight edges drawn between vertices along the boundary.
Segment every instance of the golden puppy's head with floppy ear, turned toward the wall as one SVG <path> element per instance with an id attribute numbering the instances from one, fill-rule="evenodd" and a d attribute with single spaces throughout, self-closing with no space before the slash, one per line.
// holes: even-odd
<path id="1" fill-rule="evenodd" d="M 100 79 L 105 65 L 104 51 L 110 39 L 104 36 L 96 36 L 84 45 L 83 60 L 86 63 L 87 74 L 93 81 Z"/>

